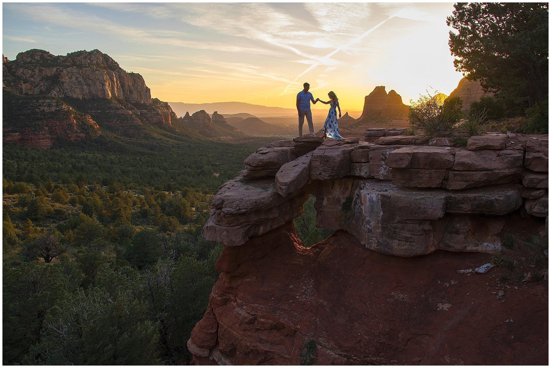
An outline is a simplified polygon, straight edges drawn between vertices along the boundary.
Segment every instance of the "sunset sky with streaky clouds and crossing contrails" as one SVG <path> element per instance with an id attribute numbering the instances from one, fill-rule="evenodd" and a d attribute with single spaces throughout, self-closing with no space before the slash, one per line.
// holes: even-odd
<path id="1" fill-rule="evenodd" d="M 99 49 L 168 102 L 294 108 L 309 82 L 361 110 L 375 86 L 404 103 L 450 94 L 453 3 L 3 3 L 2 52 Z M 317 107 L 317 106 L 316 106 Z"/>

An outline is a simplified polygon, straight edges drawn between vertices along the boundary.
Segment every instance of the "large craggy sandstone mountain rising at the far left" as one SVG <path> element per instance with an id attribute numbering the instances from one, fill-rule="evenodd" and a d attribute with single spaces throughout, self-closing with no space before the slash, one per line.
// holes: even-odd
<path id="1" fill-rule="evenodd" d="M 175 129 L 169 104 L 99 50 L 56 56 L 31 49 L 3 58 L 2 69 L 4 142 L 48 148 L 58 137 L 81 140 L 100 128 L 126 136 L 142 136 L 144 124 Z"/>

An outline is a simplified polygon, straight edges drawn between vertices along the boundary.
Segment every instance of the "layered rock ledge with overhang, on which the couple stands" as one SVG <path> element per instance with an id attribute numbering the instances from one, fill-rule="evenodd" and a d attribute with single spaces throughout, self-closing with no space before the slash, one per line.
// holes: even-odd
<path id="1" fill-rule="evenodd" d="M 239 246 L 299 216 L 309 194 L 316 196 L 317 226 L 347 230 L 369 249 L 403 257 L 435 249 L 491 252 L 501 247 L 501 215 L 522 207 L 547 217 L 547 135 L 474 136 L 467 148 L 424 138 L 267 144 L 245 160 L 266 174 L 220 187 L 203 235 Z M 522 196 L 527 189 L 529 199 Z M 352 216 L 342 216 L 347 197 Z"/>

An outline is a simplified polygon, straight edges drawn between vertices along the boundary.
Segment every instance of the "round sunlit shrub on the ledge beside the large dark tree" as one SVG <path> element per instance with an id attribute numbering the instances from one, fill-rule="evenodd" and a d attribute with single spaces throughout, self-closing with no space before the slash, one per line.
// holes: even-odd
<path id="1" fill-rule="evenodd" d="M 443 93 L 419 96 L 417 102 L 410 101 L 408 119 L 412 129 L 422 130 L 425 135 L 450 131 L 463 116 L 463 101 L 459 97 L 446 98 Z"/>

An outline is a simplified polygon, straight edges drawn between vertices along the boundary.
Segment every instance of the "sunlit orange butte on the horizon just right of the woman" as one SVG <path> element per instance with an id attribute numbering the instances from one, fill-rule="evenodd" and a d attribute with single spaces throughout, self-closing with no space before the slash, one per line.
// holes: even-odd
<path id="1" fill-rule="evenodd" d="M 386 93 L 385 86 L 377 86 L 365 96 L 364 111 L 358 120 L 374 116 L 401 118 L 407 116 L 408 109 L 395 90 Z"/>

